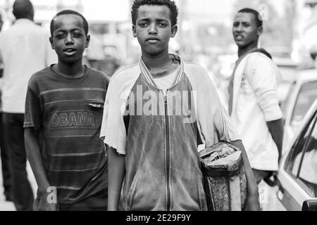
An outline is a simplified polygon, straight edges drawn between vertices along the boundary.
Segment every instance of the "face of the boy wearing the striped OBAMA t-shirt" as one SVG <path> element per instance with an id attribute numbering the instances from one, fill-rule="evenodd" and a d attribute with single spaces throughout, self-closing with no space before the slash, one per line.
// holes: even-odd
<path id="1" fill-rule="evenodd" d="M 82 59 L 82 54 L 89 46 L 89 35 L 85 34 L 83 20 L 78 15 L 58 15 L 54 22 L 51 47 L 58 59 L 74 63 Z"/>

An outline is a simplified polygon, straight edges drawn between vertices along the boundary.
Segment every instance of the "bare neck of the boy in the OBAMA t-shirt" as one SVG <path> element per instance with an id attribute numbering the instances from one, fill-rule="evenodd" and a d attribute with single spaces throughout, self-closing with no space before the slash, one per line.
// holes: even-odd
<path id="1" fill-rule="evenodd" d="M 64 77 L 79 78 L 85 75 L 85 66 L 82 65 L 82 60 L 75 63 L 63 63 L 58 61 L 56 70 Z"/>

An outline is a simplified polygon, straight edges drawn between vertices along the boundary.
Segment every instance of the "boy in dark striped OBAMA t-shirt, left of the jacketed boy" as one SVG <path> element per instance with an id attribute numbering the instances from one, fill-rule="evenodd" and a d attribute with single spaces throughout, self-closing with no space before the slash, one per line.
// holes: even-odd
<path id="1" fill-rule="evenodd" d="M 38 186 L 34 210 L 106 210 L 99 133 L 108 78 L 82 65 L 89 34 L 80 13 L 57 13 L 50 42 L 58 63 L 32 76 L 25 104 L 25 147 Z"/>

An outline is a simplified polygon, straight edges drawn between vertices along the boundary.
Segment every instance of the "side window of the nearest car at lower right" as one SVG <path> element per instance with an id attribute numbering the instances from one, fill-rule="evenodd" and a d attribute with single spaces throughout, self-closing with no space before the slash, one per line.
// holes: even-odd
<path id="1" fill-rule="evenodd" d="M 286 171 L 302 188 L 316 196 L 317 187 L 317 114 L 295 141 L 285 164 Z"/>

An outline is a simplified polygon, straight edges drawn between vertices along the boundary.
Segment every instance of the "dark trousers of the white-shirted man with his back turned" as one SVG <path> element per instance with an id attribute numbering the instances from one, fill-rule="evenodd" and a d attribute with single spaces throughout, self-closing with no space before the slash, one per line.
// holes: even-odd
<path id="1" fill-rule="evenodd" d="M 24 145 L 24 115 L 3 113 L 4 133 L 11 168 L 11 191 L 18 211 L 32 211 L 34 195 L 27 179 Z"/>

